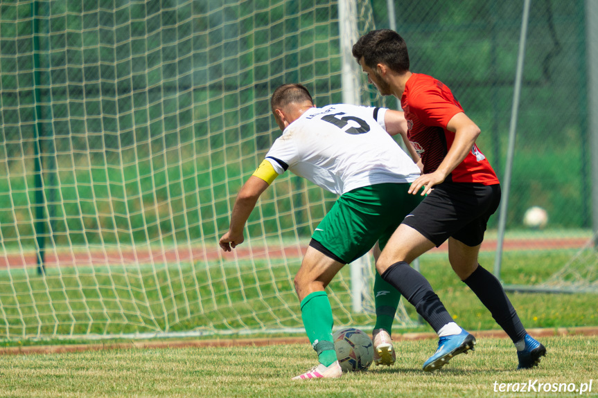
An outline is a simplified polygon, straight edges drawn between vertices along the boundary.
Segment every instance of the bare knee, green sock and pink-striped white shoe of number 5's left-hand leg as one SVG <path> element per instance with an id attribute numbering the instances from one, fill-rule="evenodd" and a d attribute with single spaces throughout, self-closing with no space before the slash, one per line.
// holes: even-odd
<path id="1" fill-rule="evenodd" d="M 294 379 L 342 375 L 334 350 L 332 309 L 324 289 L 343 266 L 343 262 L 309 246 L 295 275 L 294 285 L 301 302 L 301 317 L 310 343 L 318 355 L 319 365 Z"/>

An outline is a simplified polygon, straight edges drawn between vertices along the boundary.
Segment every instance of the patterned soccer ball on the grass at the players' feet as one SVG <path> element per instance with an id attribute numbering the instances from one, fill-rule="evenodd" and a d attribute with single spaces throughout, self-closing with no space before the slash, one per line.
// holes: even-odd
<path id="1" fill-rule="evenodd" d="M 373 361 L 371 338 L 354 327 L 346 327 L 334 335 L 334 349 L 343 372 L 366 370 Z"/>

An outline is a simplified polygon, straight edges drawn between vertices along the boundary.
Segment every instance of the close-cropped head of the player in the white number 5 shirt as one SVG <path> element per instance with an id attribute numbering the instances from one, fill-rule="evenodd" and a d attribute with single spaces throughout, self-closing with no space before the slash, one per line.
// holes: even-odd
<path id="1" fill-rule="evenodd" d="M 276 123 L 281 130 L 284 130 L 286 125 L 294 121 L 297 111 L 313 107 L 314 105 L 313 99 L 306 87 L 301 84 L 283 84 L 272 93 L 270 106 L 272 107 Z"/>

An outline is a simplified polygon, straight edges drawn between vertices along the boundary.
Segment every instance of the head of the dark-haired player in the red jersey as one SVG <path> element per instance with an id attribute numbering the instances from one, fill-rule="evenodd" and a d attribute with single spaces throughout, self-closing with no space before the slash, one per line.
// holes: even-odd
<path id="1" fill-rule="evenodd" d="M 353 57 L 368 75 L 380 94 L 391 94 L 389 84 L 380 70 L 388 68 L 398 74 L 409 71 L 409 53 L 403 37 L 391 29 L 371 30 L 353 45 Z"/>

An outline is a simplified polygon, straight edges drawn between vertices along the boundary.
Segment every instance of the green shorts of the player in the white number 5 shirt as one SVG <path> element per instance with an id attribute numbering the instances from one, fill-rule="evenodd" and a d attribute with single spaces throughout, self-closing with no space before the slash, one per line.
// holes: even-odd
<path id="1" fill-rule="evenodd" d="M 312 238 L 345 264 L 380 241 L 380 249 L 421 201 L 407 193 L 410 183 L 381 183 L 341 195 L 315 228 Z M 317 248 L 317 247 L 316 247 Z"/>

